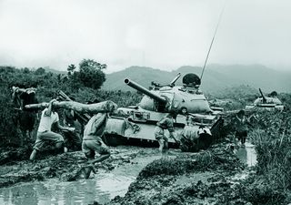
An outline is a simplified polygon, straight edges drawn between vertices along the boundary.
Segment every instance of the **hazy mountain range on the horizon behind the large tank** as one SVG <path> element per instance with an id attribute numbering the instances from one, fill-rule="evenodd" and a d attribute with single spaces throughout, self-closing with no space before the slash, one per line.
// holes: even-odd
<path id="1" fill-rule="evenodd" d="M 162 85 L 168 84 L 176 77 L 177 73 L 182 76 L 187 73 L 195 73 L 199 77 L 202 67 L 179 67 L 173 71 L 164 71 L 151 67 L 128 67 L 125 70 L 107 74 L 103 89 L 133 90 L 124 83 L 125 77 L 136 83 L 149 87 L 152 81 Z M 182 79 L 182 77 L 181 77 Z M 182 84 L 182 80 L 177 85 Z M 201 89 L 206 92 L 216 92 L 226 87 L 237 87 L 246 85 L 262 88 L 264 92 L 291 92 L 291 72 L 277 71 L 261 65 L 209 65 L 206 67 L 202 79 Z"/>

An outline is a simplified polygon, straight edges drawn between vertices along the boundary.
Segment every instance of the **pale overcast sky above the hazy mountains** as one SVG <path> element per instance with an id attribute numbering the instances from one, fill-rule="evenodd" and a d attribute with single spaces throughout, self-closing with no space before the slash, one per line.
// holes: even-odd
<path id="1" fill-rule="evenodd" d="M 202 67 L 226 0 L 0 0 L 0 65 Z M 209 64 L 291 70 L 291 1 L 227 0 Z"/>

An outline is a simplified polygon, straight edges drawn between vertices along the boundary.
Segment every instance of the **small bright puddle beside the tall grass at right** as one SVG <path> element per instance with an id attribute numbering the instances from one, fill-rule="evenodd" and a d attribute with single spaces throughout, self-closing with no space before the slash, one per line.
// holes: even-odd
<path id="1" fill-rule="evenodd" d="M 256 165 L 256 150 L 253 144 L 246 142 L 245 147 L 236 150 L 236 156 L 242 162 L 246 163 L 247 167 Z"/>

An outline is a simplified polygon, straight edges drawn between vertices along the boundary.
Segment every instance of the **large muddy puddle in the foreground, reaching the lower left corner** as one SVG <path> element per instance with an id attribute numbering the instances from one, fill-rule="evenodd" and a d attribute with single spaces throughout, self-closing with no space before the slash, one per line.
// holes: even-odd
<path id="1" fill-rule="evenodd" d="M 0 189 L 0 204 L 89 204 L 94 201 L 105 203 L 115 196 L 124 196 L 131 182 L 146 164 L 159 159 L 141 156 L 116 167 L 112 171 L 99 170 L 90 179 L 61 182 L 49 179 L 44 182 L 29 182 L 15 187 Z"/>

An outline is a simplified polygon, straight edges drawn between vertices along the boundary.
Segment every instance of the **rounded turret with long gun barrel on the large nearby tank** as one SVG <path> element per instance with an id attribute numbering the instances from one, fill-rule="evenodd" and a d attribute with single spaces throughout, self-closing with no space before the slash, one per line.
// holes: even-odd
<path id="1" fill-rule="evenodd" d="M 146 89 L 128 78 L 125 78 L 125 84 L 145 95 L 139 106 L 146 110 L 157 112 L 176 110 L 183 114 L 212 112 L 206 97 L 199 89 L 200 78 L 195 74 L 187 74 L 183 77 L 183 87 L 179 87 L 176 86 L 176 80 L 179 77 L 181 74 L 178 74 L 166 86 L 152 83 L 156 86 L 152 90 Z"/>

